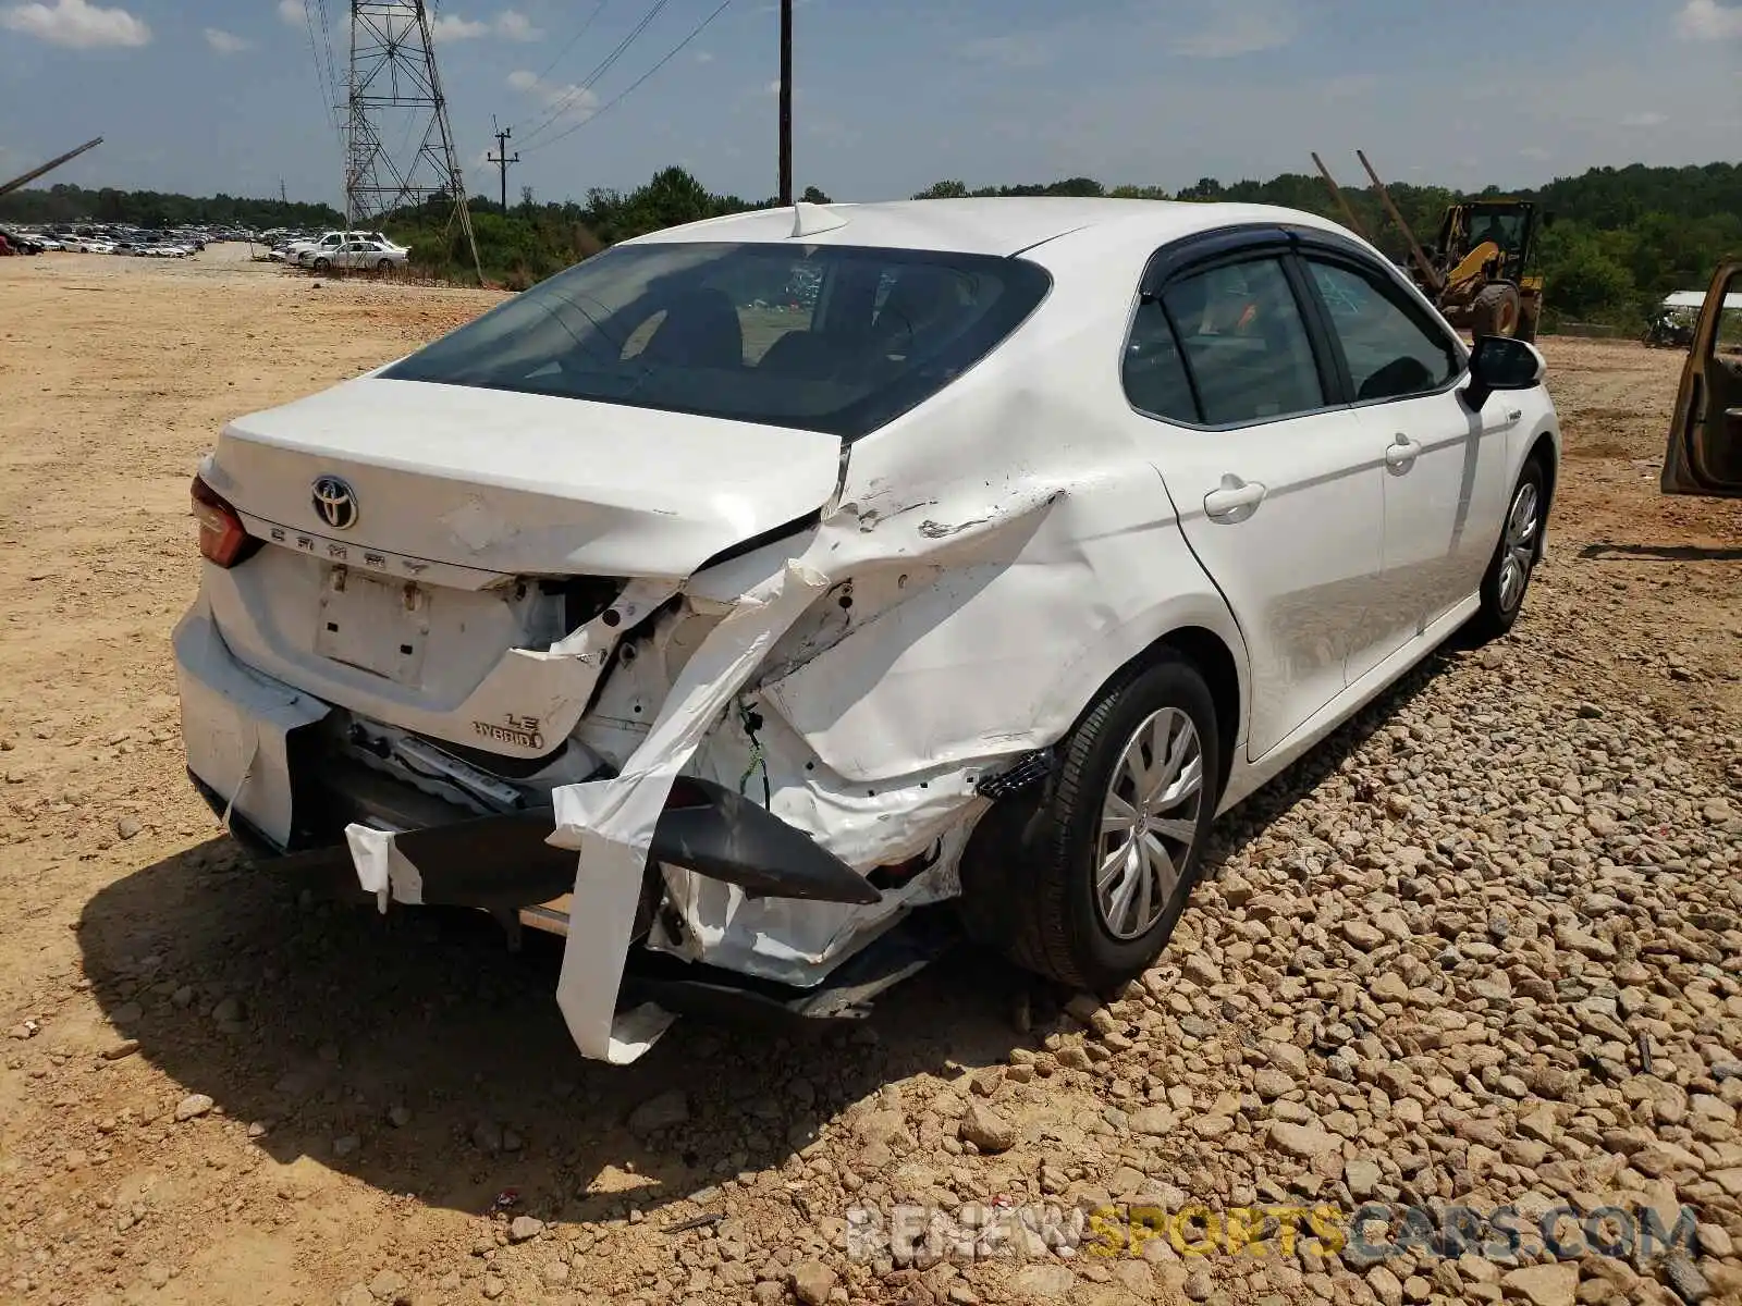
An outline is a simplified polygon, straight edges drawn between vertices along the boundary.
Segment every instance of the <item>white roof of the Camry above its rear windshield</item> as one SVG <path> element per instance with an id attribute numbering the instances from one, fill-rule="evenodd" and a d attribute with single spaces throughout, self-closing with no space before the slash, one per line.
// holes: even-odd
<path id="1" fill-rule="evenodd" d="M 730 240 L 807 246 L 869 246 L 883 249 L 927 249 L 956 254 L 1019 254 L 1047 240 L 1087 230 L 1141 228 L 1157 242 L 1178 240 L 1197 232 L 1235 223 L 1298 223 L 1341 230 L 1315 214 L 1268 204 L 1197 204 L 1181 200 L 1113 199 L 967 199 L 894 200 L 880 204 L 800 205 L 807 233 L 794 237 L 794 212 L 756 209 L 669 226 L 624 244 L 672 244 Z M 838 225 L 829 225 L 838 223 Z M 817 230 L 824 228 L 824 230 Z"/>

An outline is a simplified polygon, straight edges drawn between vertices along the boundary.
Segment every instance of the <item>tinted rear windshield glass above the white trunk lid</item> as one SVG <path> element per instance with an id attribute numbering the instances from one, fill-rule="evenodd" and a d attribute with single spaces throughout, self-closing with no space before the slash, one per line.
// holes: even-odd
<path id="1" fill-rule="evenodd" d="M 383 376 L 855 439 L 979 362 L 1049 286 L 1035 263 L 982 254 L 618 246 Z"/>

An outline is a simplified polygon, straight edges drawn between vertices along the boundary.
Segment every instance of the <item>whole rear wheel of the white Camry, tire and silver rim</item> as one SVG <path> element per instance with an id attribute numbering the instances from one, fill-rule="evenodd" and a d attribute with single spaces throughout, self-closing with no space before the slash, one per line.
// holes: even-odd
<path id="1" fill-rule="evenodd" d="M 1139 975 L 1192 895 L 1219 777 L 1216 705 L 1195 667 L 1169 653 L 1108 690 L 1012 831 L 996 909 L 1010 958 L 1092 991 Z"/>

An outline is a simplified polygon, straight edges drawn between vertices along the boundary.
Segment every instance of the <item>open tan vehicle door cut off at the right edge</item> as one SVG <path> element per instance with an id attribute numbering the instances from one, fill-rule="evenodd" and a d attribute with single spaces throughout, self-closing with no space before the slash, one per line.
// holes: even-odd
<path id="1" fill-rule="evenodd" d="M 1725 263 L 1700 308 L 1664 453 L 1665 495 L 1742 498 L 1742 263 Z"/>

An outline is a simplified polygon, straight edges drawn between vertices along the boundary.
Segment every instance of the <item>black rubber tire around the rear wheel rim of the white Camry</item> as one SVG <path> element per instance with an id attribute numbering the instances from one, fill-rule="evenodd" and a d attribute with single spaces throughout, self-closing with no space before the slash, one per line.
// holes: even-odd
<path id="1" fill-rule="evenodd" d="M 1174 857 L 1178 881 L 1160 914 L 1141 933 L 1120 939 L 1106 923 L 1094 883 L 1103 808 L 1134 731 L 1162 709 L 1183 712 L 1197 731 L 1202 782 L 1192 841 L 1183 860 Z M 981 918 L 996 914 L 1002 939 L 995 942 L 1017 965 L 1078 989 L 1106 993 L 1143 973 L 1160 954 L 1192 897 L 1221 787 L 1216 703 L 1197 669 L 1167 653 L 1106 690 L 1059 745 L 1057 756 L 1030 818 L 1019 829 L 1007 825 L 1007 834 L 1014 838 L 1007 839 L 1010 857 L 996 883 L 1002 900 Z M 991 815 L 1000 813 L 995 810 Z M 998 843 L 1005 841 L 993 839 L 995 846 Z M 967 893 L 986 888 L 965 876 Z M 984 937 L 984 930 L 979 933 Z"/>

